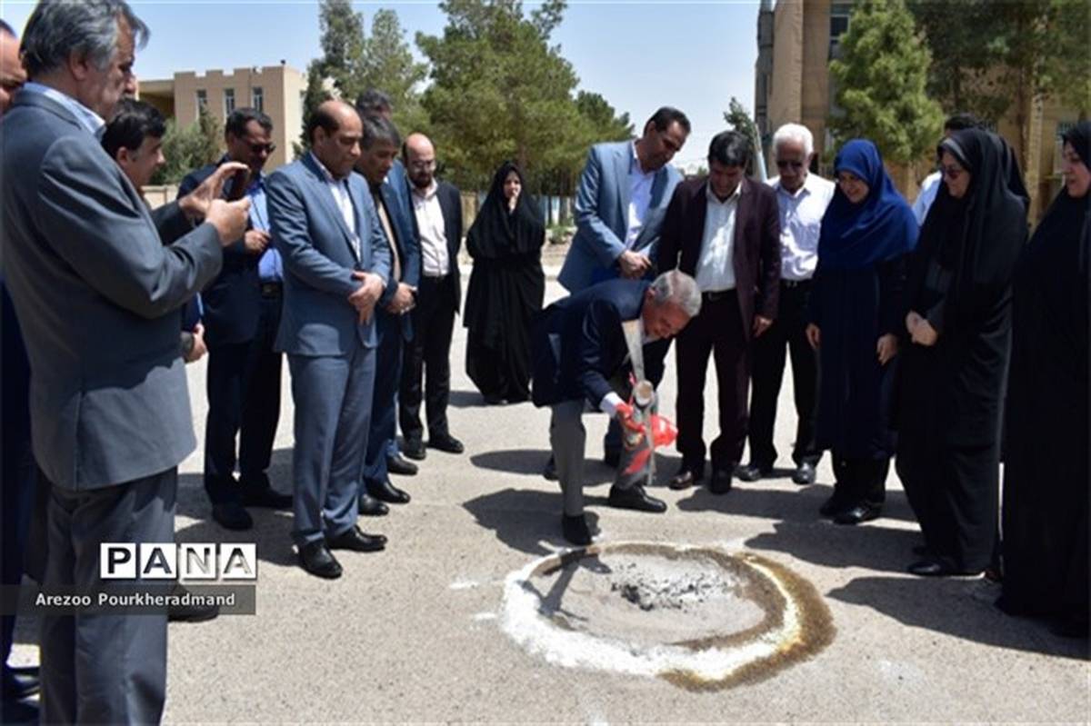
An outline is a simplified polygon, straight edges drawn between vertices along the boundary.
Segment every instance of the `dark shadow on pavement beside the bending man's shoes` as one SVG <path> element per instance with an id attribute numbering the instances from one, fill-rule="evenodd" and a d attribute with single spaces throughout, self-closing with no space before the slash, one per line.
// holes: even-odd
<path id="1" fill-rule="evenodd" d="M 585 495 L 587 506 L 606 505 L 606 497 Z M 561 492 L 503 489 L 470 499 L 463 505 L 477 523 L 496 533 L 505 545 L 529 555 L 549 555 L 558 548 L 571 547 L 561 536 Z M 587 512 L 591 534 L 598 532 L 599 517 Z M 544 542 L 551 543 L 547 547 Z"/>

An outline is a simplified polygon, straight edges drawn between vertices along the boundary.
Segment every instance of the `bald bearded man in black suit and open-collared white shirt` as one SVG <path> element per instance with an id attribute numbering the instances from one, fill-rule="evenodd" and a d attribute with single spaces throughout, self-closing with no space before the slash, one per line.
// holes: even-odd
<path id="1" fill-rule="evenodd" d="M 398 419 L 405 455 L 424 458 L 420 422 L 421 378 L 428 372 L 424 401 L 428 445 L 461 453 L 461 441 L 447 426 L 451 396 L 451 335 L 461 301 L 458 249 L 463 243 L 463 204 L 458 190 L 435 178 L 435 148 L 424 134 L 409 134 L 401 147 L 409 172 L 413 232 L 420 243 L 421 277 L 412 310 L 412 340 L 405 347 Z"/>

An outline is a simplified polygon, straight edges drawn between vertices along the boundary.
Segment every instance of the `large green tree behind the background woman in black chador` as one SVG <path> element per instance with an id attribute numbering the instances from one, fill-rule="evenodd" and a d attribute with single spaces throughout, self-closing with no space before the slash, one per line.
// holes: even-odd
<path id="1" fill-rule="evenodd" d="M 449 176 L 481 189 L 501 161 L 514 159 L 532 184 L 555 182 L 586 142 L 576 74 L 550 45 L 565 2 L 547 0 L 529 15 L 517 0 L 446 0 L 440 8 L 443 35 L 418 34 L 417 45 L 431 62 L 421 102 Z"/>

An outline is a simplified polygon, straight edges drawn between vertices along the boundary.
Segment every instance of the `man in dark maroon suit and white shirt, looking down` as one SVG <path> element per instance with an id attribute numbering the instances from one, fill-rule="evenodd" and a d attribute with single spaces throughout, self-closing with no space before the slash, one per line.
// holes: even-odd
<path id="1" fill-rule="evenodd" d="M 751 341 L 777 316 L 780 218 L 777 195 L 745 178 L 750 140 L 735 131 L 712 138 L 708 178 L 679 184 L 659 243 L 660 269 L 693 275 L 700 315 L 679 336 L 678 449 L 682 467 L 671 488 L 698 483 L 705 472 L 705 374 L 716 358 L 720 435 L 712 441 L 709 489 L 727 494 L 746 440 Z"/>

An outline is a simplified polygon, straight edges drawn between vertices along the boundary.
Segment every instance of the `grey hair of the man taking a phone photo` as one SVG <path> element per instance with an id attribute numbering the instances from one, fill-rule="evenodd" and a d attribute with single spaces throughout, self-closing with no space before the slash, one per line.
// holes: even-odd
<path id="1" fill-rule="evenodd" d="M 151 34 L 124 0 L 40 0 L 23 32 L 23 58 L 34 77 L 61 68 L 72 53 L 106 70 L 118 48 L 118 21 L 124 19 L 137 48 Z"/>

